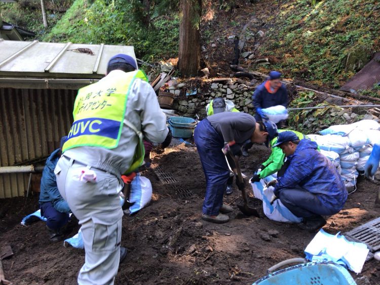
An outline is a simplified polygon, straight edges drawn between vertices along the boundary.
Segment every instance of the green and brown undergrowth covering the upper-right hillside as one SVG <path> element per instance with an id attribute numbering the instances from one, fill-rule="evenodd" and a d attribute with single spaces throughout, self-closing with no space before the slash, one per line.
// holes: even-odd
<path id="1" fill-rule="evenodd" d="M 273 69 L 314 84 L 340 86 L 380 50 L 380 2 L 286 1 L 260 48 Z M 267 70 L 265 70 L 267 71 Z"/>

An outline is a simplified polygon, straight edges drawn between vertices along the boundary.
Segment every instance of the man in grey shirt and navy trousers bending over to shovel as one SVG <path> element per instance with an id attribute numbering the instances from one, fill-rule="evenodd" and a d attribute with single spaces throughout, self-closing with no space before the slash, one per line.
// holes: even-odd
<path id="1" fill-rule="evenodd" d="M 224 214 L 233 211 L 232 207 L 223 204 L 223 193 L 230 170 L 222 149 L 229 149 L 234 157 L 241 156 L 241 148 L 246 140 L 262 144 L 268 137 L 271 139 L 276 134 L 277 127 L 274 123 L 256 122 L 251 115 L 245 113 L 219 113 L 198 124 L 194 130 L 194 140 L 207 185 L 202 208 L 203 220 L 226 223 L 230 217 Z"/>

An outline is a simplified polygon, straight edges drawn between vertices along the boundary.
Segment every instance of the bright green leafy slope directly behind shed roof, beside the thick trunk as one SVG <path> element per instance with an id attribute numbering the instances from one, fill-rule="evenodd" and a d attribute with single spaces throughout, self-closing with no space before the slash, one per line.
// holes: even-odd
<path id="1" fill-rule="evenodd" d="M 75 0 L 42 40 L 133 45 L 136 56 L 144 60 L 175 56 L 178 53 L 178 13 L 166 16 L 160 15 L 160 6 L 150 9 L 148 17 L 151 19 L 146 23 L 141 17 L 143 14 L 139 14 L 140 7 L 133 1 L 96 0 L 89 5 L 86 0 Z"/>

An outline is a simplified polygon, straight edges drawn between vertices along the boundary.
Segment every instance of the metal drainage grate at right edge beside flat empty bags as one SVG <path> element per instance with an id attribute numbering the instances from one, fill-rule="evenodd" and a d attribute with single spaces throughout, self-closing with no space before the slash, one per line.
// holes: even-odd
<path id="1" fill-rule="evenodd" d="M 372 253 L 376 252 L 380 249 L 380 218 L 359 226 L 345 235 L 354 241 L 365 243 Z"/>

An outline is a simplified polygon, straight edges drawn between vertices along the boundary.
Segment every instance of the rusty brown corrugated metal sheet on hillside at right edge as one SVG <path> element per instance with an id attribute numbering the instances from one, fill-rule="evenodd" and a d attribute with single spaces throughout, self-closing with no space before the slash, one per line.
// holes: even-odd
<path id="1" fill-rule="evenodd" d="M 356 75 L 354 75 L 340 90 L 358 93 L 363 90 L 372 90 L 380 84 L 380 53 L 376 53 Z"/>

